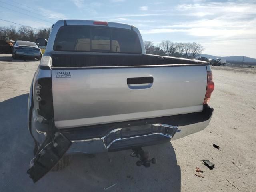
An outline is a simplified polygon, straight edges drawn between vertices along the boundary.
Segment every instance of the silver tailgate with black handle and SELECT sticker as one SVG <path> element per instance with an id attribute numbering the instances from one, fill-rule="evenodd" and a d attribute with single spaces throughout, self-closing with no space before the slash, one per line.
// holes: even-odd
<path id="1" fill-rule="evenodd" d="M 200 112 L 205 65 L 52 68 L 54 120 L 70 128 Z"/>

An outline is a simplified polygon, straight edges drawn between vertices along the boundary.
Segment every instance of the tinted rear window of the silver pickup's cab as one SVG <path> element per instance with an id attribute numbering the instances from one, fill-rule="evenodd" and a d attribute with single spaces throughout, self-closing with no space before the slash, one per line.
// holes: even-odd
<path id="1" fill-rule="evenodd" d="M 64 26 L 59 29 L 53 49 L 56 51 L 138 53 L 141 46 L 133 30 L 98 27 Z"/>

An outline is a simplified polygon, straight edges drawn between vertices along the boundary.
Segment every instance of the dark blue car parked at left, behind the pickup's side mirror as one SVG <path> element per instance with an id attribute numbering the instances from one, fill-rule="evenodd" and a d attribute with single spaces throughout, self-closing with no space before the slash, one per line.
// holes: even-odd
<path id="1" fill-rule="evenodd" d="M 41 49 L 31 41 L 16 41 L 12 47 L 12 58 L 37 58 L 41 60 Z"/>

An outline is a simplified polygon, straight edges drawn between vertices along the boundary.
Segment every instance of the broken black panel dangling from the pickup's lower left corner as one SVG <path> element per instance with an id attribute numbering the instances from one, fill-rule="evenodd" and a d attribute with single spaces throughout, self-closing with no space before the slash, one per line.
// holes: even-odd
<path id="1" fill-rule="evenodd" d="M 33 182 L 46 175 L 70 148 L 72 142 L 62 133 L 55 132 L 47 136 L 36 156 L 30 162 L 27 173 Z"/>

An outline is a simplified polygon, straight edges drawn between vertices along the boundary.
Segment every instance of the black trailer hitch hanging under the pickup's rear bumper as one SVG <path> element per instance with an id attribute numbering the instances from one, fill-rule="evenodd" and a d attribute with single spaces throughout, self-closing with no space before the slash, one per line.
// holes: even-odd
<path id="1" fill-rule="evenodd" d="M 156 164 L 156 158 L 150 159 L 150 153 L 148 151 L 144 151 L 141 147 L 132 149 L 131 156 L 140 158 L 140 161 L 136 162 L 138 167 L 141 165 L 150 167 L 151 163 Z"/>

